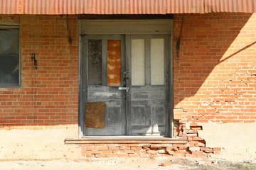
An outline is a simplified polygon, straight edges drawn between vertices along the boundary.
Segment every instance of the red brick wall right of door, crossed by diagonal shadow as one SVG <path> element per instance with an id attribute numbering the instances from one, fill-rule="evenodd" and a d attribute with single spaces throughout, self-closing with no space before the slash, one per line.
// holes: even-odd
<path id="1" fill-rule="evenodd" d="M 182 18 L 174 15 L 174 45 Z M 252 13 L 185 15 L 179 57 L 174 47 L 176 120 L 255 123 L 255 23 Z"/>

